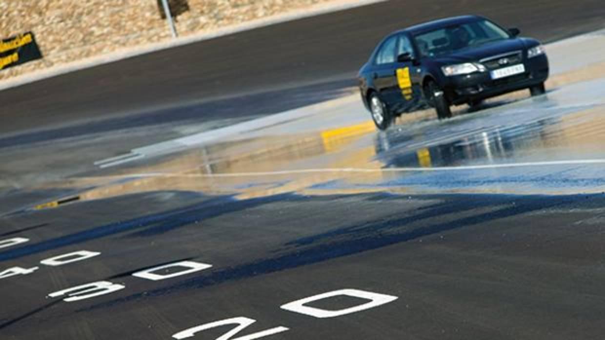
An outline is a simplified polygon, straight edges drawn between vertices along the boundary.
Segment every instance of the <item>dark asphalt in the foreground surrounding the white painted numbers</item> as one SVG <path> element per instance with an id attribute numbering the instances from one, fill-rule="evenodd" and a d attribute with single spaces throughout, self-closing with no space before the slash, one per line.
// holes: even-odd
<path id="1" fill-rule="evenodd" d="M 30 243 L 0 252 L 0 262 L 40 269 L 0 282 L 0 332 L 3 339 L 170 339 L 243 316 L 257 324 L 240 335 L 289 328 L 270 339 L 597 339 L 605 332 L 604 205 L 603 194 L 233 200 L 174 192 L 15 216 L 3 230 L 22 229 Z M 100 255 L 39 264 L 82 250 Z M 159 281 L 131 275 L 185 260 L 212 268 Z M 73 302 L 47 297 L 94 281 L 124 287 Z M 280 309 L 340 289 L 397 300 L 334 318 Z M 340 296 L 309 306 L 367 302 Z"/>

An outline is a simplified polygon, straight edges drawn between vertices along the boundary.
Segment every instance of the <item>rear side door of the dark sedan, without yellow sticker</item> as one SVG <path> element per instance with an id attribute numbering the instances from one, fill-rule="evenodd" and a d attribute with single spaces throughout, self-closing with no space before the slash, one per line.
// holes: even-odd
<path id="1" fill-rule="evenodd" d="M 385 39 L 374 57 L 371 74 L 374 88 L 378 91 L 382 101 L 389 107 L 393 107 L 398 104 L 398 101 L 401 101 L 401 91 L 395 72 L 396 50 L 397 36 Z"/>

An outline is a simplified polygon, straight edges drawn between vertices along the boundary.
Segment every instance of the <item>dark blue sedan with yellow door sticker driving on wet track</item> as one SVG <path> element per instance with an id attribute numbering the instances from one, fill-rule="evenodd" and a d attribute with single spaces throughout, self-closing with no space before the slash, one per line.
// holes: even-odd
<path id="1" fill-rule="evenodd" d="M 535 39 L 518 37 L 480 16 L 431 21 L 389 34 L 359 71 L 359 87 L 376 126 L 387 129 L 406 112 L 450 106 L 520 89 L 545 93 L 549 66 Z"/>

